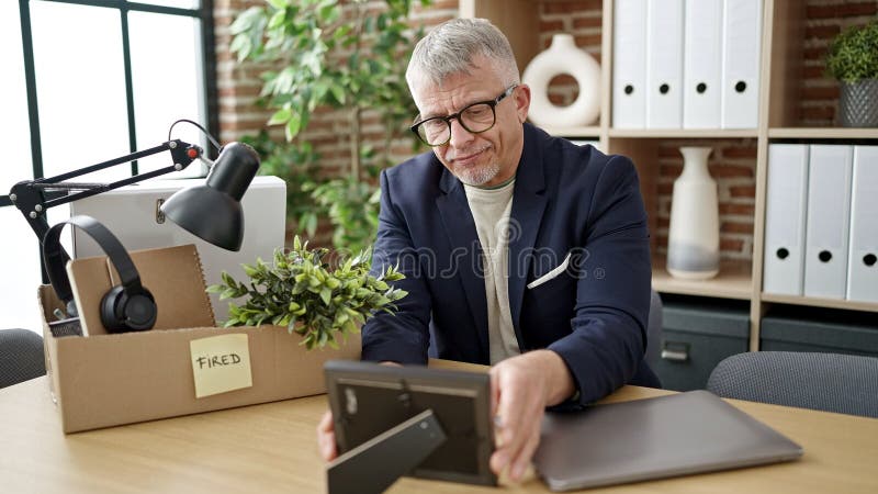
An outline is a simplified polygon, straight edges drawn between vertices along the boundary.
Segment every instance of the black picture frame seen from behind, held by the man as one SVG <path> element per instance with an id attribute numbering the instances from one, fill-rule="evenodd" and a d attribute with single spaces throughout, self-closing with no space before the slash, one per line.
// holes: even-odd
<path id="1" fill-rule="evenodd" d="M 324 371 L 339 454 L 369 441 L 371 447 L 374 438 L 431 411 L 444 441 L 406 474 L 497 484 L 488 464 L 494 428 L 487 373 L 344 360 L 328 361 Z M 374 473 L 385 467 L 381 460 L 365 464 Z"/>

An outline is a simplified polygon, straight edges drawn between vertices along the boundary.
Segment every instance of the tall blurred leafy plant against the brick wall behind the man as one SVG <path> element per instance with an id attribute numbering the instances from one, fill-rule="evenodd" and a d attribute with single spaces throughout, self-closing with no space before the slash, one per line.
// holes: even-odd
<path id="1" fill-rule="evenodd" d="M 370 203 L 376 186 L 363 181 L 363 170 L 374 176 L 387 166 L 395 138 L 409 139 L 413 149 L 417 146 L 406 130 L 416 110 L 405 83 L 412 48 L 423 35 L 423 29 L 412 30 L 406 22 L 416 1 L 431 3 L 384 0 L 375 8 L 376 2 L 367 0 L 267 0 L 232 24 L 230 48 L 239 61 L 275 67 L 262 74 L 261 96 L 274 110 L 269 124 L 283 125 L 288 141 L 307 127 L 318 108 L 340 109 L 349 116 L 348 179 L 312 188 L 314 200 L 329 207 L 337 248 L 353 249 L 373 238 L 372 229 L 354 229 L 364 224 L 364 214 L 378 211 Z M 382 156 L 363 143 L 367 110 L 376 110 L 381 117 Z M 335 198 L 344 198 L 345 204 L 329 204 Z"/>

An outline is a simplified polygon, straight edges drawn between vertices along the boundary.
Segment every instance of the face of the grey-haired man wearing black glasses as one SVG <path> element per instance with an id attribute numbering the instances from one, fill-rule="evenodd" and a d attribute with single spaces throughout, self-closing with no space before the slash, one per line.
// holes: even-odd
<path id="1" fill-rule="evenodd" d="M 454 75 L 441 87 L 421 82 L 412 89 L 420 120 L 447 116 L 480 101 L 492 101 L 506 90 L 482 56 L 474 59 L 470 75 Z M 439 161 L 460 181 L 470 186 L 493 187 L 510 179 L 518 168 L 524 148 L 521 124 L 527 119 L 530 89 L 519 85 L 494 108 L 496 121 L 485 132 L 473 134 L 460 122 L 451 121 L 451 141 L 434 147 Z"/>

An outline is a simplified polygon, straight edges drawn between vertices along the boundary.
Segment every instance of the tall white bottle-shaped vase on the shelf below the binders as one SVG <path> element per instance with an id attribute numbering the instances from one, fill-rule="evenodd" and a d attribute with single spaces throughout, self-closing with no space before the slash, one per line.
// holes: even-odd
<path id="1" fill-rule="evenodd" d="M 710 147 L 680 147 L 683 173 L 674 181 L 667 271 L 675 278 L 706 280 L 720 270 L 717 182 L 710 177 Z"/>

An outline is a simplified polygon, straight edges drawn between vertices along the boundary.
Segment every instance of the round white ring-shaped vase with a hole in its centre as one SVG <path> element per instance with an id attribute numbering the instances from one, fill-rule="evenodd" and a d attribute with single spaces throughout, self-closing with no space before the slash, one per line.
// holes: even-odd
<path id="1" fill-rule="evenodd" d="M 570 74 L 579 85 L 576 101 L 558 106 L 549 101 L 549 82 Z M 528 64 L 521 81 L 530 86 L 530 121 L 540 126 L 573 127 L 594 123 L 600 113 L 600 65 L 576 47 L 570 34 L 555 34 L 548 49 Z"/>

